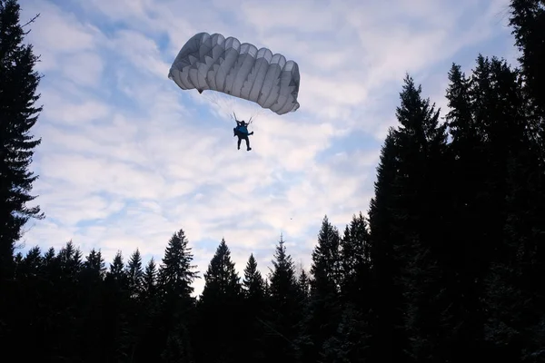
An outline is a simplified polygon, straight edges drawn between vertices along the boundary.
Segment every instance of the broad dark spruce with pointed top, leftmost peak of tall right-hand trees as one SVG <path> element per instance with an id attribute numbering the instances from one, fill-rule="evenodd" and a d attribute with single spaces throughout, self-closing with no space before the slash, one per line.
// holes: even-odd
<path id="1" fill-rule="evenodd" d="M 449 245 L 448 191 L 443 187 L 447 134 L 439 110 L 421 98 L 421 86 L 409 75 L 400 98 L 400 125 L 391 129 L 382 149 L 369 213 L 377 298 L 372 347 L 373 354 L 380 354 L 393 341 L 396 348 L 381 358 L 405 360 L 407 352 L 420 361 L 435 354 L 431 349 L 437 347 L 433 338 L 440 326 L 428 323 L 441 318 L 446 308 L 446 297 L 437 288 L 444 277 L 441 256 Z"/>

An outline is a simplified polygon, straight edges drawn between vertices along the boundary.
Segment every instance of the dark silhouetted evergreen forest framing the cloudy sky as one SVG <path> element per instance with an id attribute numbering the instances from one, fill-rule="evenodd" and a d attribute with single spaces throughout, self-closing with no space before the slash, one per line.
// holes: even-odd
<path id="1" fill-rule="evenodd" d="M 221 240 L 198 297 L 183 226 L 160 261 L 17 249 L 45 218 L 27 207 L 41 75 L 19 13 L 0 0 L 5 361 L 545 362 L 545 1 L 510 2 L 519 64 L 451 64 L 448 113 L 407 74 L 367 213 L 325 216 L 308 271 L 280 236 L 270 273 L 250 255 L 239 276 Z"/>

